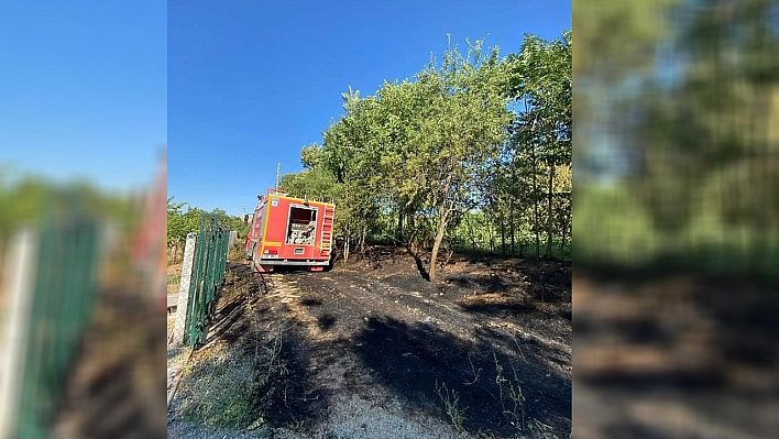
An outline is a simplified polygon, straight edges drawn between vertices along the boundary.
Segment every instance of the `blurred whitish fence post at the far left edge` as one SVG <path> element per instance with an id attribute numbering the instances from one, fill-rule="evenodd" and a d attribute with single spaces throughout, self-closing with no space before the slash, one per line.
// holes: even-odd
<path id="1" fill-rule="evenodd" d="M 3 350 L 0 364 L 0 439 L 17 437 L 19 429 L 19 404 L 24 360 L 28 354 L 30 318 L 32 312 L 33 266 L 36 261 L 37 242 L 32 231 L 20 232 L 10 248 L 3 285 L 9 300 L 7 320 L 2 333 Z"/>

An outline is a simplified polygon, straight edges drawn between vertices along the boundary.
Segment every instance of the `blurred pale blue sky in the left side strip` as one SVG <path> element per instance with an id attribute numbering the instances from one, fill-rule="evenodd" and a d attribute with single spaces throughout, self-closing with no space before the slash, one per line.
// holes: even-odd
<path id="1" fill-rule="evenodd" d="M 165 2 L 11 1 L 0 14 L 0 167 L 113 190 L 167 136 Z"/>

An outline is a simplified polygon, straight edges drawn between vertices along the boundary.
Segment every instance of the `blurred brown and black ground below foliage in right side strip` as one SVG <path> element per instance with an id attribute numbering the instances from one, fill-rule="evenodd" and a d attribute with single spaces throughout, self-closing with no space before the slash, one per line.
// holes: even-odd
<path id="1" fill-rule="evenodd" d="M 577 438 L 776 437 L 775 287 L 581 272 L 574 285 Z"/>

